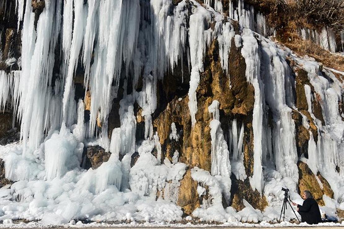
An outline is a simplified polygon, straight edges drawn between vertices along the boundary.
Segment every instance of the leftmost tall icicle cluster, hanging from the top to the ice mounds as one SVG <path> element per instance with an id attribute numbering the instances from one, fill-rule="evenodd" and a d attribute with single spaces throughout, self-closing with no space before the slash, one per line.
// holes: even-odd
<path id="1" fill-rule="evenodd" d="M 56 8 L 55 8 L 56 7 Z M 34 30 L 35 16 L 31 4 L 26 4 L 22 30 L 22 72 L 19 86 L 21 118 L 21 139 L 23 156 L 26 146 L 36 149 L 42 140 L 45 129 L 49 129 L 52 98 L 52 70 L 54 50 L 61 21 L 61 1 L 45 2 L 45 8 Z M 58 115 L 58 114 L 55 114 Z M 44 120 L 45 119 L 45 120 Z M 30 134 L 30 138 L 29 138 Z M 28 139 L 29 138 L 29 139 Z"/>

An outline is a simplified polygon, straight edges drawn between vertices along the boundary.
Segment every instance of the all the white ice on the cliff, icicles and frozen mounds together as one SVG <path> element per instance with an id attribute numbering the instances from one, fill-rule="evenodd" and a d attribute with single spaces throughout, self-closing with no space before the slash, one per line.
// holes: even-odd
<path id="1" fill-rule="evenodd" d="M 0 191 L 0 220 L 181 220 L 183 212 L 176 204 L 189 168 L 180 162 L 185 162 L 183 149 L 173 149 L 170 158 L 165 155 L 161 142 L 165 139 L 153 128 L 160 108 L 158 87 L 165 73 L 173 73 L 182 63 L 182 77 L 187 71 L 190 75 L 187 106 L 190 126 L 195 129 L 200 112 L 197 89 L 213 39 L 218 41 L 219 61 L 229 79 L 231 45 L 241 50 L 246 81 L 254 87 L 253 175 L 246 174 L 244 165 L 247 126 L 240 117 L 231 117 L 225 129 L 221 104 L 210 101 L 206 125 L 210 128 L 211 168 L 190 168 L 198 196 L 210 197 L 192 215 L 216 221 L 276 220 L 281 186 L 290 187 L 291 197 L 300 200 L 300 158 L 330 183 L 334 197 L 324 197 L 326 207 L 343 208 L 344 123 L 338 111 L 343 83 L 335 74 L 344 73 L 277 46 L 265 37 L 273 31 L 264 15 L 243 0 L 233 3 L 229 1 L 226 17 L 220 0 L 206 0 L 203 5 L 194 0 L 178 5 L 171 0 L 50 0 L 45 1 L 35 25 L 32 5 L 18 0 L 21 70 L 0 71 L 0 108 L 2 112 L 9 107 L 13 110 L 13 126 L 20 121 L 21 142 L 0 146 L 6 178 L 17 181 L 10 190 Z M 239 31 L 233 20 L 239 22 Z M 334 33 L 327 28 L 320 34 L 302 29 L 301 36 L 312 37 L 324 49 L 337 49 Z M 344 35 L 342 45 L 343 41 Z M 61 53 L 55 54 L 55 50 Z M 302 112 L 314 120 L 318 138 L 309 131 L 308 158 L 297 154 L 292 114 L 302 112 L 295 104 L 295 76 L 287 59 L 307 71 L 312 85 L 304 86 L 308 110 Z M 55 60 L 60 60 L 57 73 Z M 188 65 L 186 71 L 183 63 Z M 73 80 L 79 71 L 90 101 L 86 96 L 76 100 Z M 323 101 L 323 122 L 313 114 L 317 99 Z M 115 100 L 119 120 L 110 128 L 108 119 Z M 85 115 L 88 105 L 89 118 Z M 141 125 L 136 116 L 138 106 L 142 108 L 143 137 L 137 136 Z M 308 116 L 301 116 L 308 130 Z M 176 124 L 169 123 L 164 134 L 179 144 L 184 139 Z M 111 156 L 98 168 L 85 170 L 84 147 L 93 145 L 102 146 Z M 252 189 L 266 196 L 269 206 L 265 212 L 245 199 L 245 208 L 239 212 L 223 208 L 222 197 L 227 203 L 232 197 L 232 174 L 240 181 L 249 179 Z"/>

